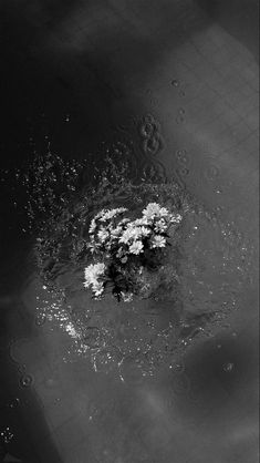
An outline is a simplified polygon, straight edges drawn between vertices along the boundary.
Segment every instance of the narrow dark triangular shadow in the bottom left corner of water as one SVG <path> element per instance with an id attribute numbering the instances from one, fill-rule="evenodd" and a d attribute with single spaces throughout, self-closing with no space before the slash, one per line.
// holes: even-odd
<path id="1" fill-rule="evenodd" d="M 22 463 L 62 463 L 33 387 L 19 387 L 20 378 L 10 359 L 2 352 L 0 359 L 1 371 L 4 371 L 0 388 L 0 428 L 2 432 L 9 428 L 13 434 L 9 441 L 7 430 L 7 439 L 1 438 L 0 456 L 4 459 L 10 454 Z"/>

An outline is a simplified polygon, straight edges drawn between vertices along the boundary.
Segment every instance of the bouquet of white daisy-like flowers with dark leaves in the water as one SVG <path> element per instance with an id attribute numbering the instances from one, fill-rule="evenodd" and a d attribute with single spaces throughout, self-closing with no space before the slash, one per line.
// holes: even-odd
<path id="1" fill-rule="evenodd" d="M 84 270 L 84 286 L 95 299 L 111 287 L 118 300 L 129 301 L 142 295 L 147 274 L 162 267 L 166 247 L 170 246 L 168 230 L 181 220 L 157 203 L 149 203 L 142 217 L 126 217 L 127 208 L 102 209 L 91 220 L 87 248 L 93 264 Z"/>

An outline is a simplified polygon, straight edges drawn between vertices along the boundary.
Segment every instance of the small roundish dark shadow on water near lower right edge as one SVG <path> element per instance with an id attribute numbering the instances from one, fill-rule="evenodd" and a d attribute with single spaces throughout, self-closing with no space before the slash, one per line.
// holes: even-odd
<path id="1" fill-rule="evenodd" d="M 250 402 L 250 384 L 258 381 L 258 349 L 247 336 L 229 333 L 205 342 L 188 352 L 185 364 L 191 393 L 199 394 L 206 410 L 218 409 L 220 391 L 226 404 L 241 391 L 243 400 Z"/>

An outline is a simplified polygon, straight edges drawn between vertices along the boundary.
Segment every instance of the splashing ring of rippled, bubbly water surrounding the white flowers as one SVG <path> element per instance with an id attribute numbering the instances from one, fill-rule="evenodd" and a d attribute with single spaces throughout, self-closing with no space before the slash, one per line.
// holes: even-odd
<path id="1" fill-rule="evenodd" d="M 142 123 L 144 141 L 159 130 L 152 116 Z M 28 186 L 34 192 L 29 219 L 37 229 L 40 278 L 51 295 L 35 323 L 42 329 L 48 320 L 69 336 L 67 359 L 84 356 L 96 371 L 116 371 L 122 381 L 136 384 L 165 368 L 177 374 L 181 352 L 214 332 L 239 306 L 250 281 L 251 247 L 233 224 L 222 224 L 179 185 L 164 179 L 159 162 L 141 160 L 144 169 L 133 182 L 136 160 L 131 150 L 123 142 L 113 150 L 102 166 L 92 166 L 87 184 L 86 162 L 63 165 L 51 154 L 38 158 L 33 175 L 31 169 L 24 177 L 28 185 L 30 178 L 33 182 Z M 169 257 L 155 277 L 156 290 L 132 302 L 118 303 L 110 295 L 93 300 L 83 287 L 90 220 L 103 207 L 125 206 L 136 217 L 148 202 L 183 216 L 170 236 Z M 183 377 L 178 381 L 183 390 Z"/>

